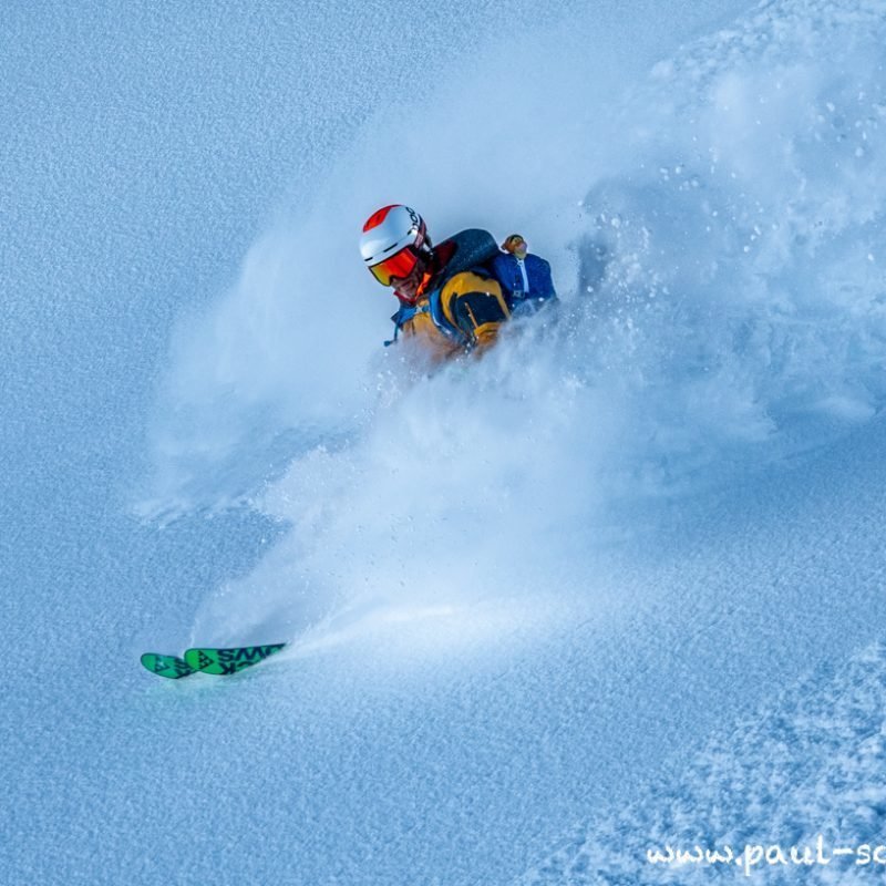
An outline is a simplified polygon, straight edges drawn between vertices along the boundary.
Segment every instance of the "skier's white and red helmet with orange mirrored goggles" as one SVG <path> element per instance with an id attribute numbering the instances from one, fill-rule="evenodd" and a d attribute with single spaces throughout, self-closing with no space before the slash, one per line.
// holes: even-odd
<path id="1" fill-rule="evenodd" d="M 409 277 L 421 259 L 431 257 L 424 219 L 409 206 L 392 204 L 373 213 L 363 225 L 360 255 L 383 286 Z"/>

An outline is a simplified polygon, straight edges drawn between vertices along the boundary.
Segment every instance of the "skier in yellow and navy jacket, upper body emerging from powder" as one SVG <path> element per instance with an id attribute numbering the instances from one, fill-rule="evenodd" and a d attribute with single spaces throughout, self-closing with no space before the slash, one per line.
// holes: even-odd
<path id="1" fill-rule="evenodd" d="M 372 276 L 392 287 L 400 301 L 391 318 L 392 341 L 401 332 L 414 338 L 435 361 L 488 347 L 511 316 L 488 268 L 498 255 L 488 231 L 468 228 L 434 247 L 424 219 L 393 204 L 363 225 L 360 253 Z"/>

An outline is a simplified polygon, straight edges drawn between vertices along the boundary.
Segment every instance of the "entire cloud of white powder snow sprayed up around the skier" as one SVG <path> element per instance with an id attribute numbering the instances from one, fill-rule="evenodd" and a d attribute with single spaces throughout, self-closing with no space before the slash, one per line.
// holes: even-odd
<path id="1" fill-rule="evenodd" d="M 349 608 L 442 607 L 467 614 L 450 622 L 463 627 L 481 600 L 587 588 L 591 552 L 629 537 L 650 496 L 873 415 L 886 393 L 885 12 L 764 4 L 640 81 L 615 49 L 589 60 L 579 28 L 519 47 L 519 70 L 511 48 L 429 90 L 408 132 L 381 115 L 312 213 L 257 247 L 206 350 L 179 359 L 178 379 L 215 364 L 214 404 L 236 405 L 225 422 L 289 441 L 285 475 L 253 497 L 291 532 L 206 601 L 200 636 L 293 636 Z M 493 111 L 507 89 L 537 125 L 515 134 Z M 388 198 L 420 207 L 436 236 L 519 229 L 554 264 L 559 316 L 431 378 L 401 351 L 372 356 L 390 305 L 343 255 Z M 231 457 L 249 462 L 243 444 Z"/>

